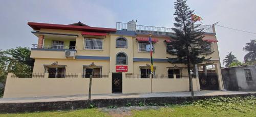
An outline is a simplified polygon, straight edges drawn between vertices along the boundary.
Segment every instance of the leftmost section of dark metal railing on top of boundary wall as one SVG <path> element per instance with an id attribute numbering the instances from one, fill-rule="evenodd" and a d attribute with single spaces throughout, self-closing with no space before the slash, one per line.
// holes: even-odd
<path id="1" fill-rule="evenodd" d="M 44 78 L 45 73 L 12 73 L 11 78 Z"/>

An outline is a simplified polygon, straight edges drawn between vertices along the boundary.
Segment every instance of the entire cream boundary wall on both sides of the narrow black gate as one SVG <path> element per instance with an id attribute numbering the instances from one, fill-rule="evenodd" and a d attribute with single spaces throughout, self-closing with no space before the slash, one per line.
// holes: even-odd
<path id="1" fill-rule="evenodd" d="M 198 78 L 193 79 L 193 85 L 194 91 L 200 90 Z M 152 91 L 189 91 L 188 78 L 152 79 Z M 8 74 L 4 98 L 87 95 L 88 92 L 89 78 L 12 78 Z M 92 78 L 92 94 L 111 93 L 111 73 L 109 78 Z M 151 79 L 125 78 L 125 74 L 122 74 L 122 93 L 151 93 Z"/>

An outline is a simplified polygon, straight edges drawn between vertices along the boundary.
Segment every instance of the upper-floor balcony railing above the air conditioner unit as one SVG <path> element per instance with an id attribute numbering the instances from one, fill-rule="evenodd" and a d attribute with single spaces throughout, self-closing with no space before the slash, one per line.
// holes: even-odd
<path id="1" fill-rule="evenodd" d="M 32 48 L 44 48 L 44 49 L 76 49 L 76 46 L 63 46 L 63 45 L 38 45 L 32 44 Z"/>

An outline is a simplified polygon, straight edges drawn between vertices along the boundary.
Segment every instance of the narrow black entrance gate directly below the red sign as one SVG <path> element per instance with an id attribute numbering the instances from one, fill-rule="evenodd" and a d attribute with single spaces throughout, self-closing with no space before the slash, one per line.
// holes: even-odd
<path id="1" fill-rule="evenodd" d="M 122 93 L 122 74 L 112 74 L 112 93 Z"/>

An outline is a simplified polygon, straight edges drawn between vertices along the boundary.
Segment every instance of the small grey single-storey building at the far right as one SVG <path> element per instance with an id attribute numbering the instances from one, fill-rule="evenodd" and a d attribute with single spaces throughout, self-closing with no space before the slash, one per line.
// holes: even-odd
<path id="1" fill-rule="evenodd" d="M 221 70 L 224 87 L 229 91 L 256 91 L 256 65 Z"/>

